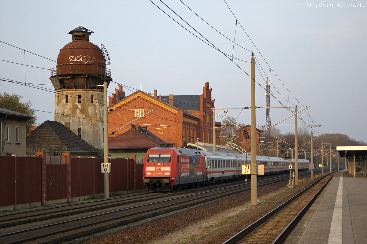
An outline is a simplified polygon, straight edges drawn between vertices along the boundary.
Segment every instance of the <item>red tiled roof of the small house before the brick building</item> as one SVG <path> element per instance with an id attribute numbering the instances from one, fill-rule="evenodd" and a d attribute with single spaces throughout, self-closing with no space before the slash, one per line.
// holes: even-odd
<path id="1" fill-rule="evenodd" d="M 109 139 L 109 149 L 136 149 L 136 148 L 155 148 L 159 144 L 166 143 L 158 136 L 146 129 L 131 128 L 124 134 Z"/>

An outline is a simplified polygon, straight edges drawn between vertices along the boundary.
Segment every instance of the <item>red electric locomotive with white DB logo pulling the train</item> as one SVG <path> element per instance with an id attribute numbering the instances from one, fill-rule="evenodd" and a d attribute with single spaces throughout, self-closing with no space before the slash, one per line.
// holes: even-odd
<path id="1" fill-rule="evenodd" d="M 204 155 L 190 148 L 151 148 L 146 153 L 143 181 L 149 190 L 174 190 L 206 183 Z"/>

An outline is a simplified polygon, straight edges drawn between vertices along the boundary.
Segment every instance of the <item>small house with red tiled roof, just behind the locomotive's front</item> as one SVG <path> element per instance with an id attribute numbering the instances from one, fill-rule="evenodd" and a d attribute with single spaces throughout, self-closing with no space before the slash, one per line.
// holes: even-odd
<path id="1" fill-rule="evenodd" d="M 108 141 L 108 153 L 112 159 L 137 156 L 137 163 L 142 163 L 149 148 L 155 148 L 165 141 L 148 130 L 148 126 L 131 125 L 123 134 L 113 136 Z"/>

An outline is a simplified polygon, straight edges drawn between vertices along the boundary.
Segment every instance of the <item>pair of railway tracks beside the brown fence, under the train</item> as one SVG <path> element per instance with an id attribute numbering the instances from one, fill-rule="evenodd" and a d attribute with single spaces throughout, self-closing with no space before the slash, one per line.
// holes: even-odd
<path id="1" fill-rule="evenodd" d="M 287 179 L 287 175 L 261 179 L 258 186 Z M 0 228 L 0 243 L 60 243 L 111 228 L 124 229 L 131 223 L 184 211 L 249 189 L 250 183 L 217 186 L 211 190 L 203 187 L 197 193 L 147 194 L 2 215 L 0 223 L 4 227 Z"/>

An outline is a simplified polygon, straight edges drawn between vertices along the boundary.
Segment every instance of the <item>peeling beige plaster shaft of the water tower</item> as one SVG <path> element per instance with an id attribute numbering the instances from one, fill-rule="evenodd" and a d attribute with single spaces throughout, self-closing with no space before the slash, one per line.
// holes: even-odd
<path id="1" fill-rule="evenodd" d="M 68 95 L 68 103 L 66 96 Z M 81 96 L 78 103 L 78 95 Z M 93 103 L 91 101 L 93 95 Z M 94 148 L 103 148 L 103 92 L 99 90 L 57 90 L 55 94 L 55 121 L 66 125 L 78 135 L 81 128 L 81 138 Z M 105 99 L 104 99 L 105 100 Z M 65 114 L 65 115 L 62 115 Z"/>

